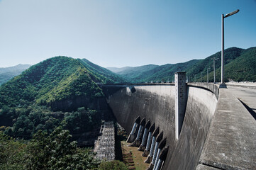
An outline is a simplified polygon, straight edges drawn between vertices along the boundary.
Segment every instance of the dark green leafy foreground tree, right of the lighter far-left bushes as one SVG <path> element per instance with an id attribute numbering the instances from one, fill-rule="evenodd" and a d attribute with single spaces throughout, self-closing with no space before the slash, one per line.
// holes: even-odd
<path id="1" fill-rule="evenodd" d="M 39 130 L 28 142 L 26 169 L 94 169 L 99 162 L 89 149 L 79 149 L 70 142 L 68 130 L 55 128 L 48 135 Z"/>

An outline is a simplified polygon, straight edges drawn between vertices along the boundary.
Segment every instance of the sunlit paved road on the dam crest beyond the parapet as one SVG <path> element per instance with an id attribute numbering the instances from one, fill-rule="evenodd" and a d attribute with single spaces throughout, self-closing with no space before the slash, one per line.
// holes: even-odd
<path id="1" fill-rule="evenodd" d="M 240 101 L 243 101 L 243 103 L 249 107 L 249 109 L 247 109 L 256 119 L 256 89 L 238 86 L 227 86 L 227 89 L 231 91 L 231 93 L 236 98 L 238 98 Z"/>

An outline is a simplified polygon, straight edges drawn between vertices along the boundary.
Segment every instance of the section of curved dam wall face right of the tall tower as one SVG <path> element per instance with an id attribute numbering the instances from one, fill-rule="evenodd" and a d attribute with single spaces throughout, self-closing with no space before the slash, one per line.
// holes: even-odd
<path id="1" fill-rule="evenodd" d="M 172 143 L 174 146 L 168 144 L 171 153 L 167 155 L 166 169 L 196 169 L 216 108 L 216 96 L 210 91 L 191 86 L 188 91 L 182 132 L 179 140 Z"/>

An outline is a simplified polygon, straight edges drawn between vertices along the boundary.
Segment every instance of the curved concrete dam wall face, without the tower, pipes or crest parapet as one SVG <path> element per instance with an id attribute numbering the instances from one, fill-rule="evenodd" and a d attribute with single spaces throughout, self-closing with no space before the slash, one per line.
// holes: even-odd
<path id="1" fill-rule="evenodd" d="M 175 140 L 175 86 L 109 85 L 103 90 L 116 120 L 127 132 L 138 116 L 163 131 L 169 145 L 163 169 L 196 169 L 216 109 L 213 92 L 187 86 L 186 113 L 179 140 Z"/>

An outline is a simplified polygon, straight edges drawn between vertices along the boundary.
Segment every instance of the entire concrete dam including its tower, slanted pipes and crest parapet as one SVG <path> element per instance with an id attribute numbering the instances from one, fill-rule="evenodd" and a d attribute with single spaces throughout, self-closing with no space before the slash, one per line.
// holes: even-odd
<path id="1" fill-rule="evenodd" d="M 255 118 L 228 89 L 204 83 L 101 87 L 149 169 L 256 169 Z"/>

